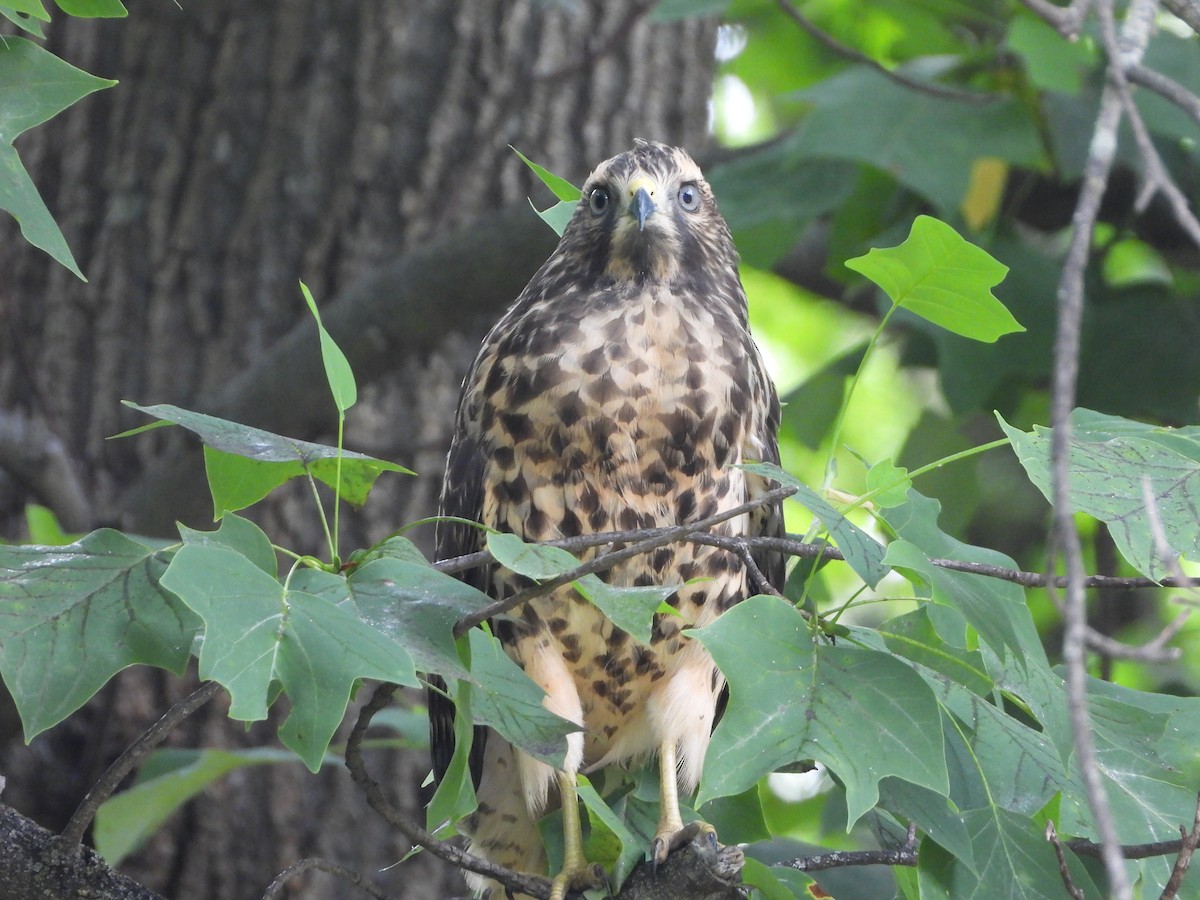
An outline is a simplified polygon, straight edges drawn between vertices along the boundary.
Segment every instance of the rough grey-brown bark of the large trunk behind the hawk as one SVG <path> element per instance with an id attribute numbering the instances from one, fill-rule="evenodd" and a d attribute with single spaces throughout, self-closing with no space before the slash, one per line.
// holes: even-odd
<path id="1" fill-rule="evenodd" d="M 491 319 L 553 246 L 522 211 L 548 196 L 514 144 L 580 180 L 646 137 L 706 134 L 715 26 L 653 23 L 644 0 L 209 0 L 138 4 L 119 22 L 59 20 L 49 47 L 120 85 L 20 140 L 86 272 L 83 284 L 0 222 L 0 412 L 73 460 L 86 527 L 209 527 L 198 456 L 180 433 L 104 438 L 143 420 L 119 400 L 233 414 L 329 439 L 304 278 L 365 382 L 348 443 L 407 464 L 344 546 L 434 511 L 462 371 Z M 482 223 L 482 224 L 481 224 Z M 188 457 L 192 463 L 188 466 Z M 0 474 L 0 533 L 19 536 L 36 480 Z M 320 548 L 311 499 L 254 512 L 276 540 Z M 190 685 L 120 676 L 24 748 L 0 697 L 6 802 L 62 826 L 96 774 Z M 7 707 L 7 709 L 6 709 Z M 282 715 L 282 713 L 281 713 Z M 169 743 L 271 744 L 218 700 Z M 378 752 L 378 778 L 419 815 L 421 751 Z M 326 856 L 397 896 L 462 893 L 366 809 L 340 768 L 242 769 L 176 815 L 124 870 L 174 900 L 260 896 Z M 347 896 L 328 876 L 293 896 Z"/>

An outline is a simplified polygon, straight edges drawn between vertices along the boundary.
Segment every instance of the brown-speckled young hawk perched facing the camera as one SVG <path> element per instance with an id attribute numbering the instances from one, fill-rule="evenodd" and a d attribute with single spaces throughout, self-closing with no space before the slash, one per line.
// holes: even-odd
<path id="1" fill-rule="evenodd" d="M 763 493 L 767 484 L 737 464 L 779 461 L 780 407 L 750 336 L 737 263 L 713 192 L 685 151 L 638 140 L 600 163 L 558 248 L 467 374 L 440 515 L 545 541 L 685 524 Z M 781 535 L 781 510 L 766 505 L 718 530 Z M 482 546 L 479 528 L 438 526 L 439 559 Z M 755 563 L 756 575 L 782 587 L 781 556 Z M 497 599 L 528 584 L 498 565 L 463 577 Z M 678 616 L 658 614 L 642 643 L 563 588 L 497 619 L 494 634 L 546 692 L 545 706 L 583 731 L 569 736 L 556 770 L 476 728 L 479 805 L 460 823 L 473 852 L 545 872 L 535 822 L 562 804 L 566 858 L 554 900 L 596 877 L 582 848 L 576 773 L 656 756 L 654 859 L 692 833 L 679 788 L 700 779 L 725 680 L 683 631 L 757 593 L 736 553 L 698 544 L 658 548 L 602 577 L 678 584 L 668 599 Z M 430 719 L 440 779 L 454 752 L 452 702 L 431 691 Z M 473 887 L 488 883 L 475 877 Z"/>

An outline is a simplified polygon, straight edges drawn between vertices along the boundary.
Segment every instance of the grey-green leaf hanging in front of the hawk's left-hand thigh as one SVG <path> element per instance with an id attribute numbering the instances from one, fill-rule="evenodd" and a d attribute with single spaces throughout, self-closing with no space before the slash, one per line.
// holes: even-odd
<path id="1" fill-rule="evenodd" d="M 582 728 L 546 709 L 541 688 L 480 629 L 470 631 L 470 673 L 479 683 L 472 691 L 475 722 L 492 726 L 509 743 L 560 768 L 566 736 Z"/>

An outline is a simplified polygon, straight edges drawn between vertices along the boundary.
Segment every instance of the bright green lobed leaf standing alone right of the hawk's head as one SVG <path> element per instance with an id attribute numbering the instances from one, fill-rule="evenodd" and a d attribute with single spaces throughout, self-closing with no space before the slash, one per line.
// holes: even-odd
<path id="1" fill-rule="evenodd" d="M 964 240 L 946 222 L 917 216 L 904 244 L 846 260 L 896 306 L 956 335 L 991 343 L 1024 331 L 991 288 L 1008 266 Z"/>

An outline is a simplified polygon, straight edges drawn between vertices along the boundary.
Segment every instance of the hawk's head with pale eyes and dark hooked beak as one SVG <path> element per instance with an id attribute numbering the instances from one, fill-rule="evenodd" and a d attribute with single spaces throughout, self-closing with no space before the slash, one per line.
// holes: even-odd
<path id="1" fill-rule="evenodd" d="M 730 229 L 700 167 L 684 150 L 647 140 L 588 176 L 559 250 L 612 282 L 677 282 L 737 270 Z"/>

